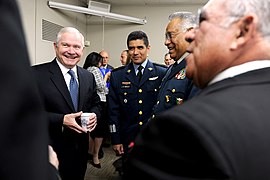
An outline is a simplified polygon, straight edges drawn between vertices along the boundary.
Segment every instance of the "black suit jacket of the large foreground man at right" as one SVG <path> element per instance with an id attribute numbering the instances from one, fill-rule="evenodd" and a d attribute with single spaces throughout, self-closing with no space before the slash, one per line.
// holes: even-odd
<path id="1" fill-rule="evenodd" d="M 210 85 L 149 123 L 126 178 L 270 179 L 270 68 Z"/>

